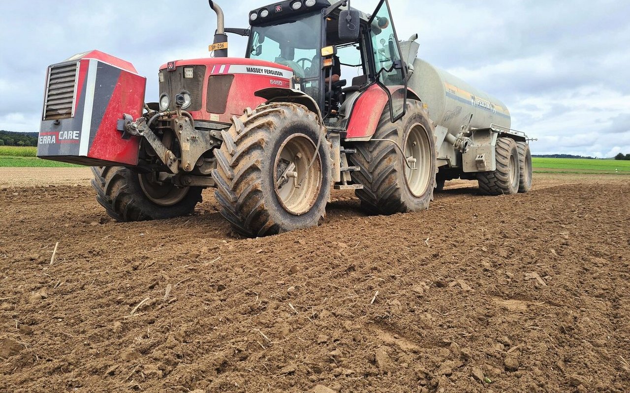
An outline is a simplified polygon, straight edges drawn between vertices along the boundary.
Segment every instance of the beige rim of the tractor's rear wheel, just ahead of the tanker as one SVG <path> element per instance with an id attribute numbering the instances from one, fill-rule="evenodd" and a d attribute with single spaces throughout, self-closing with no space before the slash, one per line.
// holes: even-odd
<path id="1" fill-rule="evenodd" d="M 411 127 L 404 143 L 406 163 L 416 168 L 411 169 L 403 162 L 404 177 L 409 191 L 416 197 L 425 193 L 431 178 L 431 145 L 427 138 L 427 130 L 420 123 L 416 123 Z"/>

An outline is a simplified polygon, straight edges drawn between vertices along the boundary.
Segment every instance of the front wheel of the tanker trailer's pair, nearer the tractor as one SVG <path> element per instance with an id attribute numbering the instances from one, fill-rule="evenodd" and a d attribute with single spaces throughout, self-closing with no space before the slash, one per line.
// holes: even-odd
<path id="1" fill-rule="evenodd" d="M 511 138 L 498 138 L 495 146 L 496 170 L 479 172 L 479 191 L 484 195 L 516 194 L 520 180 L 518 149 Z"/>

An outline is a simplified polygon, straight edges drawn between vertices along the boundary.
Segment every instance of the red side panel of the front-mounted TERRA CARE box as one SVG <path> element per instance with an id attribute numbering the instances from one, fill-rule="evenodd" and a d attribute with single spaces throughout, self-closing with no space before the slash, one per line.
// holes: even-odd
<path id="1" fill-rule="evenodd" d="M 143 77 L 125 71 L 120 74 L 88 157 L 129 165 L 138 163 L 139 138 L 122 139 L 116 127 L 123 113 L 130 114 L 134 119 L 142 116 L 145 84 Z"/>

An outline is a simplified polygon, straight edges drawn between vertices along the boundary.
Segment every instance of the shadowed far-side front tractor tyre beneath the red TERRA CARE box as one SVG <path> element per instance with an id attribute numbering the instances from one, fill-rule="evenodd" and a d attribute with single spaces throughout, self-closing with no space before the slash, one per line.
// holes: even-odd
<path id="1" fill-rule="evenodd" d="M 138 174 L 125 167 L 91 169 L 96 201 L 117 221 L 187 216 L 202 200 L 202 187 L 176 187 L 163 173 Z"/>

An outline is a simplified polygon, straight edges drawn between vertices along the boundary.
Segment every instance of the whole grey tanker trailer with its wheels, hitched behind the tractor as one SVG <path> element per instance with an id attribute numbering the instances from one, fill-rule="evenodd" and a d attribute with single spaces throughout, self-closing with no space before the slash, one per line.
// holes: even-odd
<path id="1" fill-rule="evenodd" d="M 446 180 L 467 179 L 478 180 L 483 194 L 529 191 L 529 139 L 510 128 L 505 104 L 416 57 L 420 47 L 416 39 L 417 35 L 401 42 L 401 50 L 407 64 L 413 65 L 409 67 L 409 87 L 418 94 L 435 125 L 437 189 L 442 189 Z"/>

